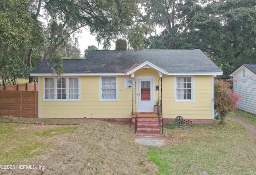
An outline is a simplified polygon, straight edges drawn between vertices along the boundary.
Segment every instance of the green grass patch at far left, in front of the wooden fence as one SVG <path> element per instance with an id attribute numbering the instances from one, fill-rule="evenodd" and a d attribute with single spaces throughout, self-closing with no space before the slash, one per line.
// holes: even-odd
<path id="1" fill-rule="evenodd" d="M 76 128 L 77 126 L 0 123 L 0 165 L 14 165 L 22 158 L 41 155 L 46 149 L 56 146 L 51 141 L 52 138 L 72 133 Z"/>

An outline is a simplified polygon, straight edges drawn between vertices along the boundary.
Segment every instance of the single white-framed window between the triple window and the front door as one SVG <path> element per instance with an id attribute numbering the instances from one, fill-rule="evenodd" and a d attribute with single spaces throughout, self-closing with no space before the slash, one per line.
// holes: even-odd
<path id="1" fill-rule="evenodd" d="M 100 101 L 118 101 L 117 77 L 100 77 Z"/>

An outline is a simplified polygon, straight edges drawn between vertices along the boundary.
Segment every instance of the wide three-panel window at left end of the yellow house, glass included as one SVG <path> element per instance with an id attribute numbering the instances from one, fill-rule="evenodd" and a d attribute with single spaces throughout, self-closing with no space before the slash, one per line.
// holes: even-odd
<path id="1" fill-rule="evenodd" d="M 44 78 L 44 100 L 80 100 L 80 78 Z"/>

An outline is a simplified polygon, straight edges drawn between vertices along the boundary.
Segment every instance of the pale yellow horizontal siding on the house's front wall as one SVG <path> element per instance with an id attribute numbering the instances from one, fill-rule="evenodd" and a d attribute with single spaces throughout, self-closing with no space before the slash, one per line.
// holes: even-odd
<path id="1" fill-rule="evenodd" d="M 154 76 L 155 99 L 158 97 L 156 85 L 159 77 L 152 69 L 141 69 L 137 76 Z M 40 77 L 40 117 L 42 118 L 130 118 L 132 112 L 132 88 L 124 88 L 124 79 L 118 77 L 118 101 L 99 101 L 99 76 L 81 76 L 80 101 L 43 101 L 43 77 Z M 162 78 L 163 116 L 187 119 L 212 118 L 211 76 L 194 76 L 194 102 L 174 102 L 174 76 Z"/>

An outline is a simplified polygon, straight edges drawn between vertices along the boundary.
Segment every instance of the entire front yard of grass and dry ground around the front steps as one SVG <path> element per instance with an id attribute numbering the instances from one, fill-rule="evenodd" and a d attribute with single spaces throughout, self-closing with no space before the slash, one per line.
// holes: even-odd
<path id="1" fill-rule="evenodd" d="M 255 123 L 256 116 L 243 111 L 230 115 Z M 248 137 L 245 127 L 226 119 L 224 125 L 214 121 L 186 130 L 166 126 L 167 145 L 161 147 L 135 143 L 130 123 L 14 117 L 0 122 L 0 165 L 14 165 L 1 166 L 2 174 L 256 174 L 255 135 Z"/>

